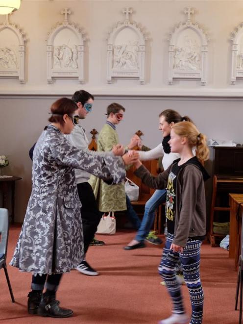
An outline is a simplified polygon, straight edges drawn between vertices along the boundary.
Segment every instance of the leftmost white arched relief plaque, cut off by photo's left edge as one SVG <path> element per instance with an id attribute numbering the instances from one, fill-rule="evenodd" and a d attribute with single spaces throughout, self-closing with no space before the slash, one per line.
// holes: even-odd
<path id="1" fill-rule="evenodd" d="M 0 24 L 0 78 L 19 79 L 25 82 L 24 32 L 9 22 L 9 15 Z"/>

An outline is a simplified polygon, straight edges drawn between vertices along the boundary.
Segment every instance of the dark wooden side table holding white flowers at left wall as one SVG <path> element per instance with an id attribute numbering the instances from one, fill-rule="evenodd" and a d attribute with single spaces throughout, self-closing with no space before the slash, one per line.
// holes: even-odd
<path id="1" fill-rule="evenodd" d="M 14 223 L 15 181 L 21 180 L 19 176 L 0 177 L 0 191 L 2 191 L 2 207 L 7 208 L 7 196 L 11 192 L 11 223 Z"/>

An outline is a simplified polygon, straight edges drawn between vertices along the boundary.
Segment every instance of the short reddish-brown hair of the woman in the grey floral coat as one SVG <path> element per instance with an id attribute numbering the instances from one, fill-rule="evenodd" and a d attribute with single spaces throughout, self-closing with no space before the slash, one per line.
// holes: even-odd
<path id="1" fill-rule="evenodd" d="M 77 105 L 73 100 L 68 98 L 58 99 L 50 106 L 53 115 L 50 116 L 49 122 L 64 125 L 63 115 L 72 116 L 75 110 L 77 110 Z"/>

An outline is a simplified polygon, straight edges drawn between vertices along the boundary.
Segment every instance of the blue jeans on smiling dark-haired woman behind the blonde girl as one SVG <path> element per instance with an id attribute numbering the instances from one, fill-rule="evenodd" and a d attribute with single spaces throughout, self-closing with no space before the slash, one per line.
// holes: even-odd
<path id="1" fill-rule="evenodd" d="M 137 240 L 138 242 L 144 241 L 153 224 L 156 208 L 158 208 L 159 205 L 165 200 L 166 200 L 166 189 L 155 190 L 153 196 L 147 200 L 145 204 L 144 217 L 141 226 L 137 231 L 135 240 Z"/>

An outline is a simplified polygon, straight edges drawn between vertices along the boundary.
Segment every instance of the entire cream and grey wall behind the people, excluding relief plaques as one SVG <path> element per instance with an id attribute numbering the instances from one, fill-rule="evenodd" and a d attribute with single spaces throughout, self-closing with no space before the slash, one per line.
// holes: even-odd
<path id="1" fill-rule="evenodd" d="M 124 6 L 133 8 L 133 19 L 145 27 L 149 36 L 145 85 L 139 85 L 137 80 L 117 80 L 108 85 L 105 80 L 105 39 L 110 28 L 123 20 Z M 209 81 L 205 87 L 199 81 L 167 85 L 167 39 L 172 27 L 185 21 L 186 6 L 197 9 L 194 18 L 205 26 L 211 38 Z M 87 33 L 84 85 L 75 80 L 57 80 L 54 84 L 46 81 L 45 39 L 51 26 L 62 22 L 60 11 L 64 7 L 73 11 L 71 21 L 79 22 Z M 4 17 L 0 17 L 0 23 L 3 21 Z M 28 38 L 26 83 L 0 79 L 0 155 L 6 154 L 10 160 L 4 172 L 23 178 L 16 183 L 17 221 L 24 218 L 31 190 L 28 150 L 47 123 L 50 104 L 60 96 L 71 96 L 75 90 L 85 89 L 96 97 L 94 111 L 82 122 L 88 135 L 92 128 L 100 130 L 106 106 L 117 101 L 126 108 L 124 121 L 118 126 L 123 144 L 141 129 L 144 143 L 149 147 L 157 145 L 161 141 L 158 114 L 166 108 L 189 115 L 208 138 L 243 143 L 243 83 L 229 84 L 230 33 L 243 21 L 243 1 L 22 0 L 20 10 L 10 21 L 20 25 Z"/>

